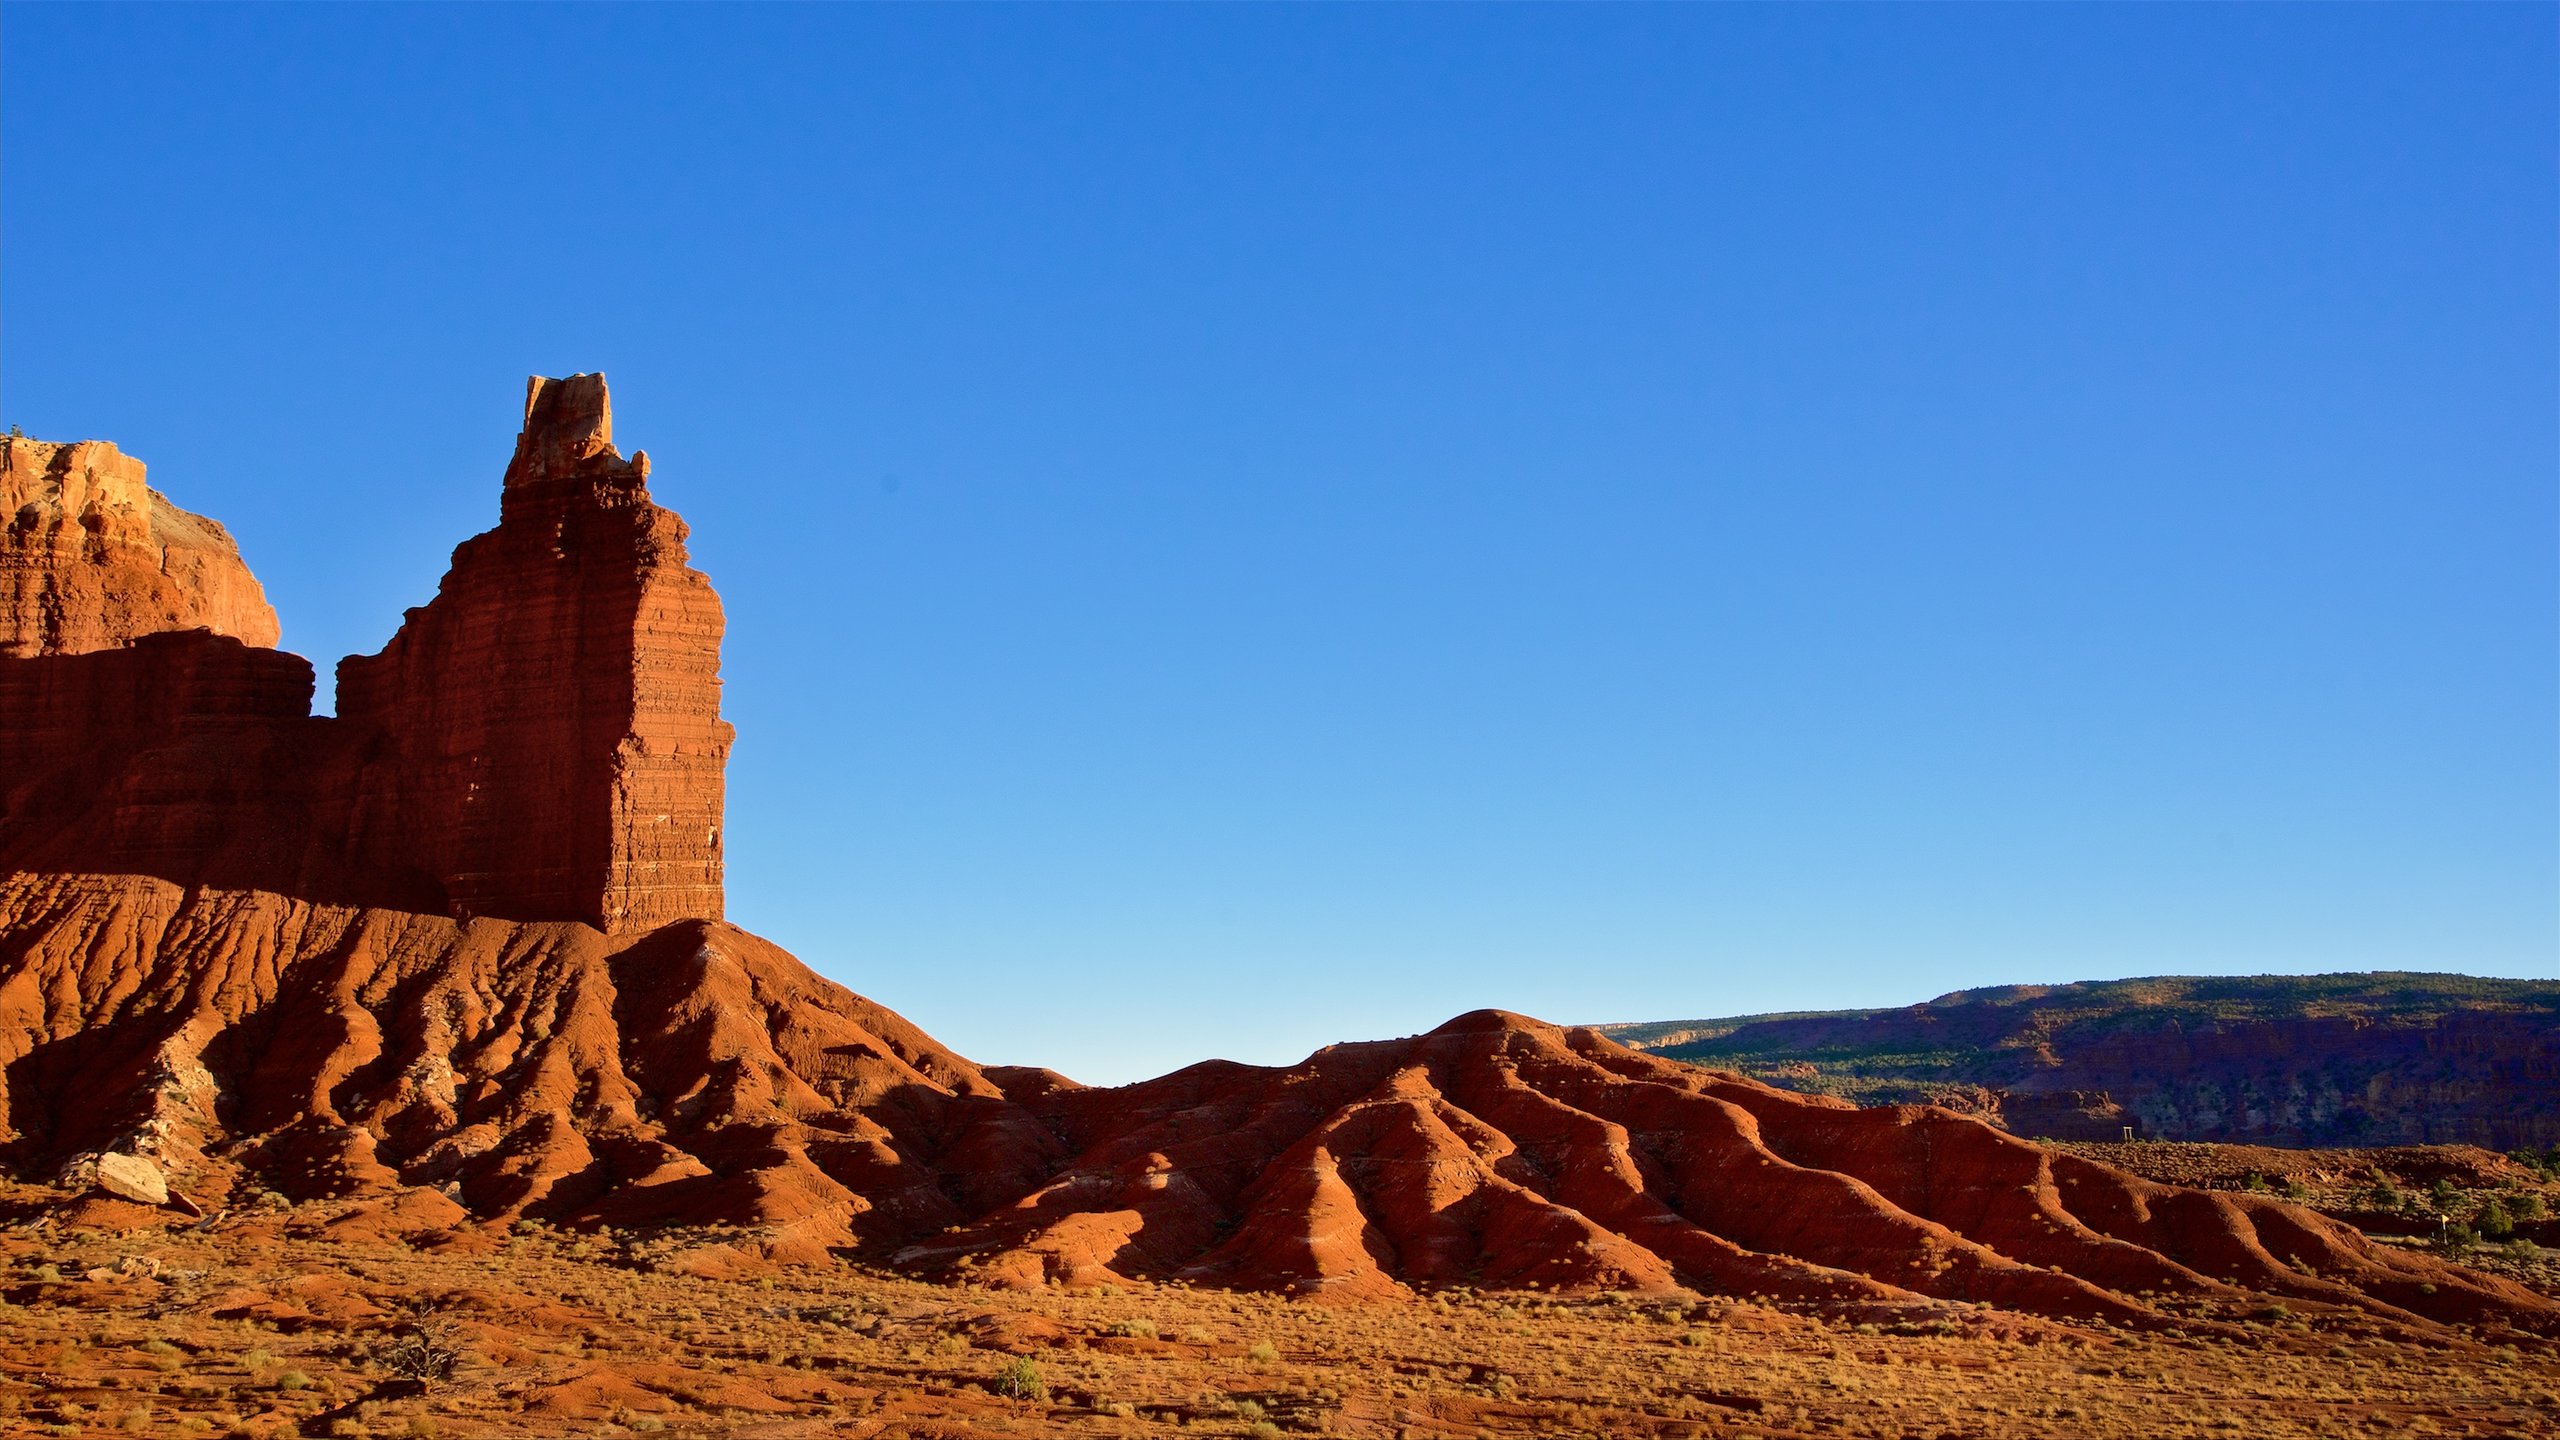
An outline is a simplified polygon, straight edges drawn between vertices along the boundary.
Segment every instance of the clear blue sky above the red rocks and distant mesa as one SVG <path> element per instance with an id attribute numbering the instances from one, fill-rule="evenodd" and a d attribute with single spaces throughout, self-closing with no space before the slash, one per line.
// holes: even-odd
<path id="1" fill-rule="evenodd" d="M 970 1056 L 2560 974 L 2550 5 L 0 23 L 5 420 L 325 674 L 604 369 Z"/>

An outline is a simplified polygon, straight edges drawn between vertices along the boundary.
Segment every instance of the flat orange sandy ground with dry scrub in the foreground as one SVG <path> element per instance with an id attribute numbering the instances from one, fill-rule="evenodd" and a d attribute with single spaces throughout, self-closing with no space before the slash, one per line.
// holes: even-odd
<path id="1" fill-rule="evenodd" d="M 412 1245 L 346 1204 L 197 1230 L 59 1199 L 0 1186 L 0 1435 L 2560 1435 L 2550 1343 L 2281 1307 L 2122 1332 L 1964 1307 L 986 1291 L 760 1266 L 737 1232 Z"/>

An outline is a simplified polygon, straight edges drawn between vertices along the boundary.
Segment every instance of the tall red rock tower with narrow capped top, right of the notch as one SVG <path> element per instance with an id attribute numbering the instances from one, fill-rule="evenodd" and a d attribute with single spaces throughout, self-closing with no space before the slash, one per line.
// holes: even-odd
<path id="1" fill-rule="evenodd" d="M 719 633 L 604 377 L 532 379 L 497 530 L 381 653 L 338 661 L 338 717 L 379 738 L 356 856 L 435 874 L 466 915 L 717 920 Z"/>

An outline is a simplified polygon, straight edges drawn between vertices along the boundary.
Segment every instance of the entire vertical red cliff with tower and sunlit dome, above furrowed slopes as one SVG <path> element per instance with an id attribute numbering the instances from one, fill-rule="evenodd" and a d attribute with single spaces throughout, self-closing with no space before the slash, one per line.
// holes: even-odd
<path id="1" fill-rule="evenodd" d="M 8 551 L 36 638 L 0 659 L 0 866 L 602 930 L 719 917 L 719 600 L 648 456 L 614 451 L 602 374 L 530 382 L 499 525 L 338 666 L 338 717 L 266 648 L 228 536 L 136 461 L 10 441 L 8 466 L 41 495 Z"/>

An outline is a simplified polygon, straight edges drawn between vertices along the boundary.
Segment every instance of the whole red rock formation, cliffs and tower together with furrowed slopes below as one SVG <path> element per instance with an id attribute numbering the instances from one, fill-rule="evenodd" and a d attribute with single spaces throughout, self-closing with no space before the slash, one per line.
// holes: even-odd
<path id="1" fill-rule="evenodd" d="M 1492 1010 L 1116 1089 L 975 1066 L 719 920 L 722 612 L 614 451 L 602 377 L 527 387 L 499 525 L 340 664 L 338 717 L 310 715 L 228 538 L 141 500 L 138 466 L 13 441 L 8 474 L 33 507 L 0 659 L 20 1176 L 164 1176 L 207 1212 L 353 1197 L 420 1243 L 748 1227 L 689 1250 L 696 1273 L 850 1256 L 993 1286 L 1710 1291 L 2230 1335 L 2281 1297 L 2560 1335 L 2522 1286 L 2271 1197 Z M 141 1222 L 131 1194 L 95 1204 Z"/>

